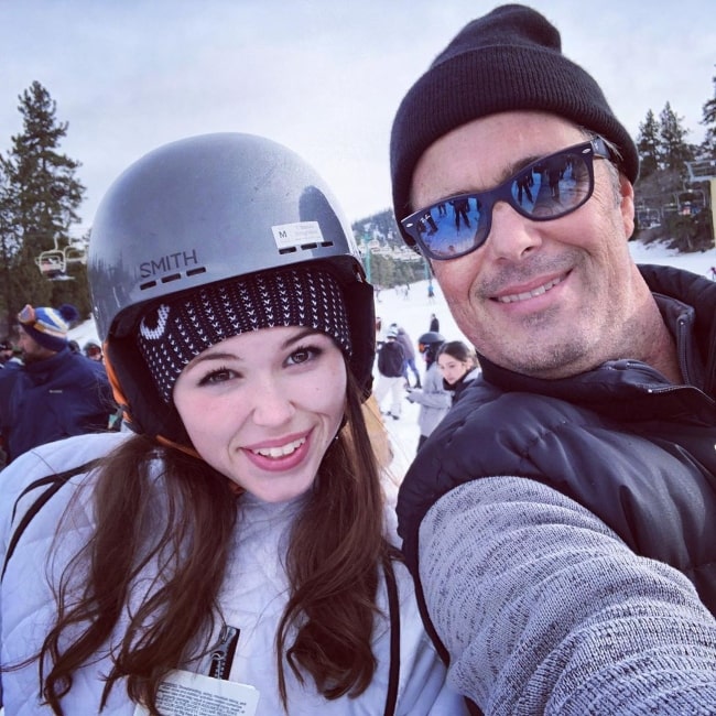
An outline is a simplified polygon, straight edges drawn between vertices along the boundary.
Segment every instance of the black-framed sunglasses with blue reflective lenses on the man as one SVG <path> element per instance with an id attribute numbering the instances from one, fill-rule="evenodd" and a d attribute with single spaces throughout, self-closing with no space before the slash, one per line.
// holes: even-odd
<path id="1" fill-rule="evenodd" d="M 543 156 L 493 189 L 451 196 L 400 224 L 428 259 L 457 259 L 487 241 L 497 202 L 507 202 L 533 221 L 551 221 L 578 209 L 594 192 L 595 158 L 610 159 L 600 137 Z"/>

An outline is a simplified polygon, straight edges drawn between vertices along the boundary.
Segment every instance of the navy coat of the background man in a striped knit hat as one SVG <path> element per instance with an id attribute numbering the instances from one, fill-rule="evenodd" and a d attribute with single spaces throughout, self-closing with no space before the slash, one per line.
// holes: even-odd
<path id="1" fill-rule="evenodd" d="M 14 381 L 7 402 L 0 403 L 10 460 L 36 445 L 107 430 L 116 405 L 101 364 L 64 348 L 51 358 L 6 372 L 0 382 Z"/>

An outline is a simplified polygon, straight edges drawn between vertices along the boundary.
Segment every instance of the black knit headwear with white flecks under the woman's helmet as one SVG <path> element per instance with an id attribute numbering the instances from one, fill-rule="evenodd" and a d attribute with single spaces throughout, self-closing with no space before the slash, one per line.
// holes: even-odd
<path id="1" fill-rule="evenodd" d="M 262 271 L 211 283 L 155 305 L 139 324 L 137 344 L 164 402 L 184 367 L 231 336 L 274 326 L 307 326 L 351 355 L 348 314 L 338 281 L 313 267 Z"/>

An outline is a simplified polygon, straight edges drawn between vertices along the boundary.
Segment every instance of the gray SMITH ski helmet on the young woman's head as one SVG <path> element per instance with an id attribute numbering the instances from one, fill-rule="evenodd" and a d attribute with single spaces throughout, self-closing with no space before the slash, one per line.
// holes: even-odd
<path id="1" fill-rule="evenodd" d="M 333 194 L 297 154 L 241 133 L 160 147 L 110 186 L 95 217 L 88 276 L 117 400 L 137 432 L 187 444 L 135 346 L 141 315 L 167 296 L 270 269 L 321 262 L 338 280 L 350 324 L 350 368 L 367 395 L 373 292 Z"/>

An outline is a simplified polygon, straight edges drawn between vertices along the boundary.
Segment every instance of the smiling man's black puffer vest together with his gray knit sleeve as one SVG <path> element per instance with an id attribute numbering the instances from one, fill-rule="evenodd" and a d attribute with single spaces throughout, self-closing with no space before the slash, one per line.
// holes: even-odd
<path id="1" fill-rule="evenodd" d="M 684 384 L 629 359 L 547 381 L 480 358 L 484 377 L 401 486 L 427 627 L 452 683 L 482 706 L 576 715 L 593 703 L 584 694 L 606 713 L 617 697 L 630 713 L 716 703 L 716 284 L 641 271 Z M 524 710 L 512 710 L 516 694 Z"/>

